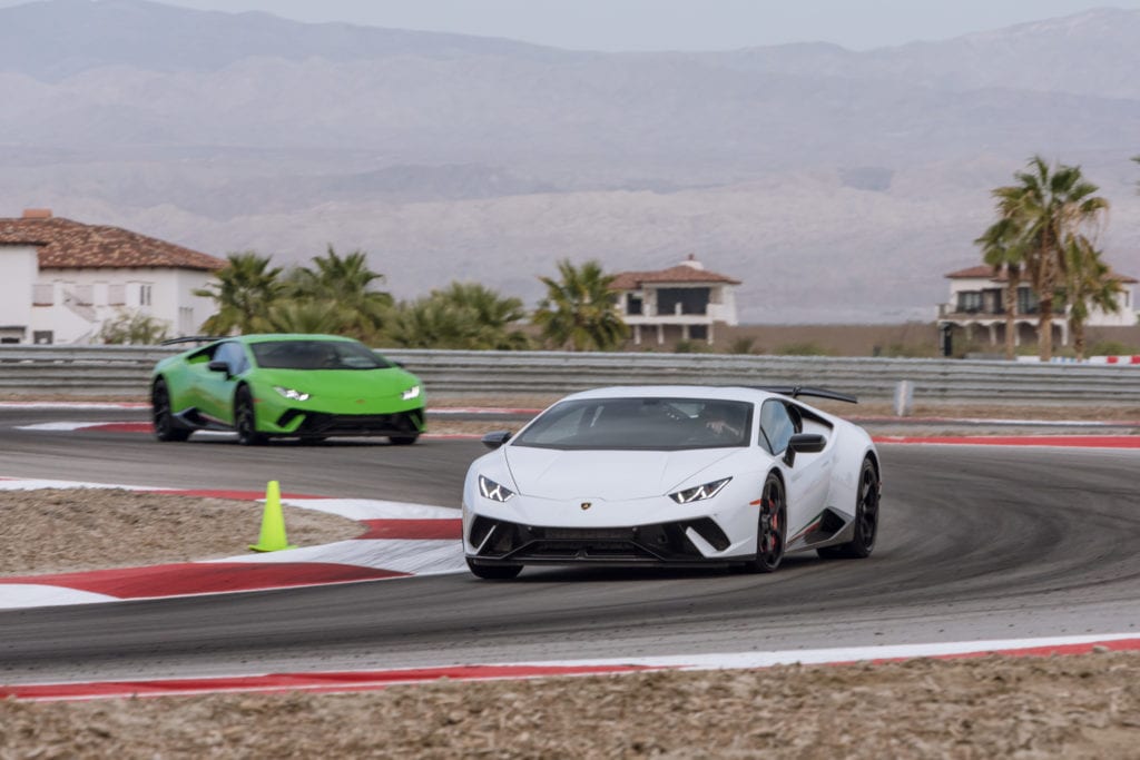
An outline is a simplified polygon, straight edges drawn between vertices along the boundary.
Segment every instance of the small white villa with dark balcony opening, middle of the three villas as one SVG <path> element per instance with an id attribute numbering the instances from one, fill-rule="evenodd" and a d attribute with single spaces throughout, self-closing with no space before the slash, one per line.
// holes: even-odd
<path id="1" fill-rule="evenodd" d="M 619 272 L 612 287 L 634 343 L 641 345 L 648 332 L 660 345 L 666 340 L 711 344 L 714 325 L 736 325 L 738 285 L 740 280 L 708 271 L 690 254 L 669 269 Z"/>

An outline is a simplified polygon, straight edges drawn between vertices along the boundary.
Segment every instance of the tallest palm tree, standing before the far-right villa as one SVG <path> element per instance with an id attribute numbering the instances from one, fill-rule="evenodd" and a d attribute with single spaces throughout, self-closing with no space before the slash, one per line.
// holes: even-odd
<path id="1" fill-rule="evenodd" d="M 1009 220 L 1017 232 L 1019 248 L 1040 312 L 1037 341 L 1042 361 L 1053 354 L 1053 299 L 1064 286 L 1068 265 L 1065 246 L 1086 229 L 1096 230 L 1108 210 L 1108 201 L 1094 195 L 1099 189 L 1084 179 L 1080 166 L 1059 164 L 1050 167 L 1041 156 L 1028 162 L 1028 171 L 1017 172 L 1017 185 L 993 191 L 997 216 Z"/>

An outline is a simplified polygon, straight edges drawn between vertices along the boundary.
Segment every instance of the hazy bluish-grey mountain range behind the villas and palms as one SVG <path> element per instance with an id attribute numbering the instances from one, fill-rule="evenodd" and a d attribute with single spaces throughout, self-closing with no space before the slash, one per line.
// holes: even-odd
<path id="1" fill-rule="evenodd" d="M 141 0 L 0 8 L 0 215 L 369 252 L 532 303 L 561 258 L 742 279 L 744 321 L 930 318 L 1034 153 L 1140 276 L 1140 11 L 944 42 L 600 54 Z"/>

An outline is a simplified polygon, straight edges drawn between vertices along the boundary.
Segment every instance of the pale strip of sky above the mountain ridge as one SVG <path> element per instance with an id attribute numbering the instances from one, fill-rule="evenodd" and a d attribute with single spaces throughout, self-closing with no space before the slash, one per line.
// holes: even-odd
<path id="1" fill-rule="evenodd" d="M 0 0 L 15 6 L 28 0 Z M 98 2 L 99 0 L 91 0 Z M 727 50 L 825 41 L 854 50 L 943 40 L 1140 0 L 163 0 L 304 22 L 505 36 L 593 50 Z"/>

